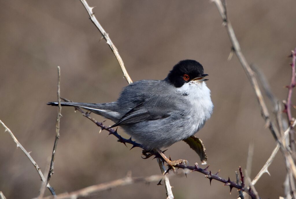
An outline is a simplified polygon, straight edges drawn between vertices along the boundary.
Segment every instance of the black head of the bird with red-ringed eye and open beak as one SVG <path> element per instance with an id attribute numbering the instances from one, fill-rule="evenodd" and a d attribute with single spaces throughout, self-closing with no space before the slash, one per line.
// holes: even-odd
<path id="1" fill-rule="evenodd" d="M 177 63 L 165 80 L 169 81 L 175 87 L 181 87 L 183 84 L 192 80 L 206 81 L 207 79 L 202 79 L 205 76 L 207 74 L 204 74 L 203 67 L 199 62 L 186 59 Z"/>

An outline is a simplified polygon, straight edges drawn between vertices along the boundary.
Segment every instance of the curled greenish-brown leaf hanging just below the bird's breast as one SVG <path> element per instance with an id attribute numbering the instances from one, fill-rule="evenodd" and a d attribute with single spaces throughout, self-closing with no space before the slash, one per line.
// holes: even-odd
<path id="1" fill-rule="evenodd" d="M 186 142 L 190 146 L 190 148 L 193 149 L 200 156 L 200 161 L 202 161 L 202 164 L 207 164 L 207 154 L 205 153 L 205 146 L 203 145 L 200 138 L 191 136 L 183 141 Z"/>

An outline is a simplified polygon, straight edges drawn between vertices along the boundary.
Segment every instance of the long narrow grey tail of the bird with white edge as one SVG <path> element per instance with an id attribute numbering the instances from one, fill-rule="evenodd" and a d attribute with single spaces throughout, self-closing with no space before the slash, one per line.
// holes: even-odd
<path id="1" fill-rule="evenodd" d="M 48 102 L 47 105 L 58 106 L 58 102 Z M 120 114 L 116 112 L 117 103 L 103 103 L 103 104 L 92 104 L 92 103 L 80 103 L 80 102 L 61 102 L 62 106 L 77 106 L 85 110 L 91 111 L 95 114 L 101 115 L 107 119 L 117 122 L 120 118 Z"/>

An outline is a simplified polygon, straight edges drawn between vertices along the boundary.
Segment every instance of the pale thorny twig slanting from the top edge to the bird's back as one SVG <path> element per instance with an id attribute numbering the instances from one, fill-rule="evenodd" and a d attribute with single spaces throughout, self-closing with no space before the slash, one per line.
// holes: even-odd
<path id="1" fill-rule="evenodd" d="M 118 53 L 117 48 L 115 47 L 115 45 L 112 43 L 109 35 L 107 34 L 107 32 L 104 30 L 104 28 L 100 25 L 100 23 L 98 22 L 98 20 L 96 19 L 96 17 L 94 16 L 94 13 L 92 12 L 92 9 L 94 9 L 94 7 L 90 7 L 89 4 L 87 4 L 87 2 L 85 0 L 80 0 L 81 3 L 83 4 L 83 6 L 85 7 L 86 11 L 89 13 L 89 17 L 91 19 L 91 21 L 94 23 L 94 25 L 98 28 L 98 30 L 101 32 L 102 37 L 104 37 L 104 39 L 106 40 L 107 44 L 110 46 L 112 52 L 114 53 L 120 68 L 123 72 L 123 76 L 126 78 L 126 81 L 128 81 L 128 84 L 133 83 L 133 81 L 131 80 L 130 76 L 128 75 L 128 72 L 126 71 L 126 68 L 124 67 L 124 63 Z"/>

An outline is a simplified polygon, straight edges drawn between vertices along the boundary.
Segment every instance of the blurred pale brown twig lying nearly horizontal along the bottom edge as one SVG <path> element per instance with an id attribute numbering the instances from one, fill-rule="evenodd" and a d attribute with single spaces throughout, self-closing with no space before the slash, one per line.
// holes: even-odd
<path id="1" fill-rule="evenodd" d="M 144 182 L 144 183 L 150 183 L 150 182 L 157 182 L 161 179 L 164 179 L 165 177 L 173 177 L 173 176 L 177 176 L 177 175 L 181 175 L 181 174 L 168 174 L 168 175 L 152 175 L 152 176 L 148 176 L 148 177 L 131 177 L 131 174 L 128 174 L 126 177 L 118 179 L 118 180 L 113 180 L 111 182 L 107 182 L 107 183 L 102 183 L 102 184 L 98 184 L 98 185 L 92 185 L 77 191 L 73 191 L 70 193 L 62 193 L 57 195 L 56 197 L 45 197 L 44 199 L 49 199 L 49 198 L 55 198 L 55 199 L 76 199 L 76 198 L 80 198 L 80 197 L 87 197 L 90 195 L 93 195 L 95 193 L 99 193 L 101 191 L 104 190 L 110 190 L 112 188 L 115 187 L 119 187 L 119 186 L 125 186 L 125 185 L 131 185 L 134 183 L 138 183 L 138 182 Z"/>

